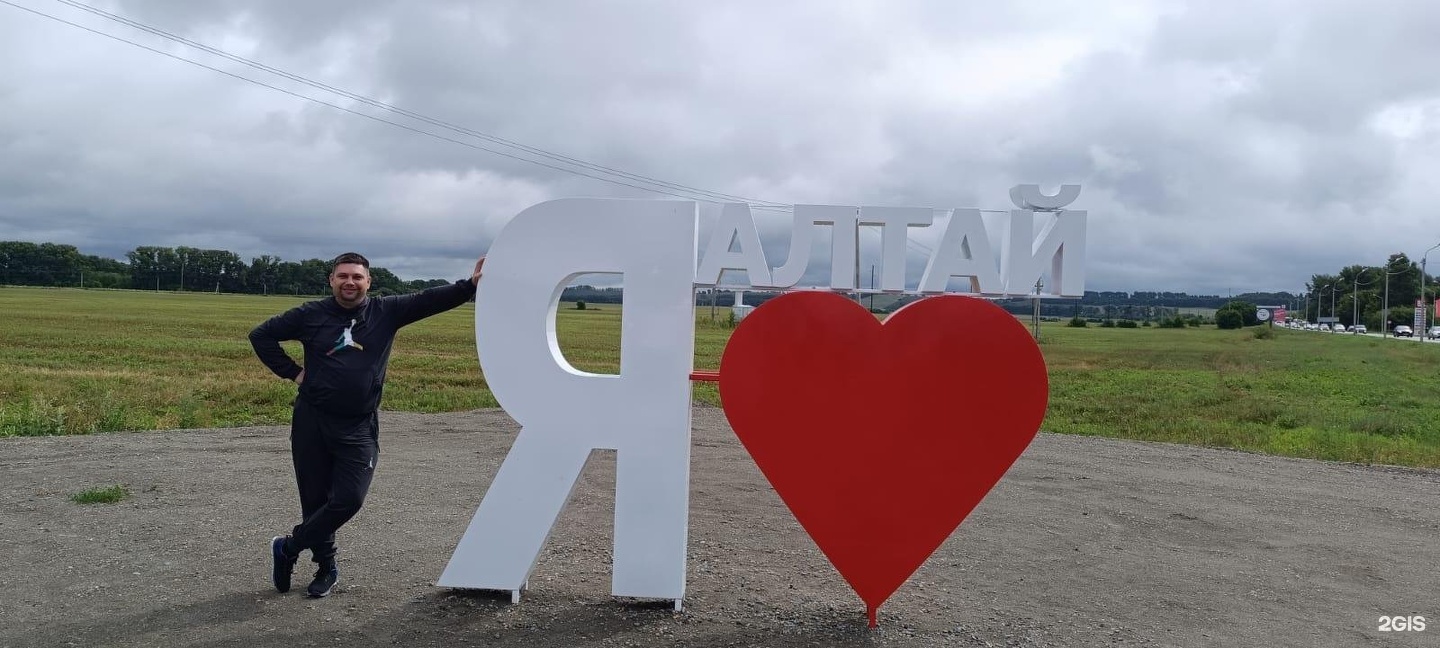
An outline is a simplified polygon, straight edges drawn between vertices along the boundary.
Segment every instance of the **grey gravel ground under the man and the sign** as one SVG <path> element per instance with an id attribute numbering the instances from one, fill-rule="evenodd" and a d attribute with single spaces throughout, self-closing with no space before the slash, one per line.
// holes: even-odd
<path id="1" fill-rule="evenodd" d="M 268 583 L 298 510 L 285 429 L 3 439 L 0 647 L 1440 645 L 1436 471 L 1043 433 L 871 631 L 708 408 L 684 612 L 609 598 L 603 454 L 520 605 L 435 588 L 516 432 L 498 410 L 386 413 L 318 600 Z M 117 482 L 134 497 L 68 500 Z"/>

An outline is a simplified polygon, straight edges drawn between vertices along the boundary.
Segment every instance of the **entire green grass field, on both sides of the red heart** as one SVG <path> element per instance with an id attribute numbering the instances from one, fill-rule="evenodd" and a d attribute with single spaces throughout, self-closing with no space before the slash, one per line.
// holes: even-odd
<path id="1" fill-rule="evenodd" d="M 0 288 L 0 436 L 288 422 L 295 387 L 259 364 L 246 334 L 301 301 Z M 696 315 L 696 369 L 716 369 L 730 328 L 706 307 Z M 562 308 L 570 363 L 615 372 L 619 318 L 616 305 Z M 1045 431 L 1440 467 L 1440 344 L 1047 324 L 1041 350 Z M 696 397 L 719 400 L 713 383 L 696 384 Z M 400 331 L 383 406 L 497 406 L 475 357 L 472 305 Z"/>

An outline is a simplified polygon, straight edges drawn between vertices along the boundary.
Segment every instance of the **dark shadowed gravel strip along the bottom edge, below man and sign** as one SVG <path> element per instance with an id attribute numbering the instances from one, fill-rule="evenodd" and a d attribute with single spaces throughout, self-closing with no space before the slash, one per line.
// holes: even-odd
<path id="1" fill-rule="evenodd" d="M 674 612 L 670 602 L 586 599 L 534 592 L 520 605 L 508 592 L 438 589 L 387 611 L 353 611 L 344 592 L 301 612 L 274 592 L 239 592 L 170 606 L 102 625 L 36 628 L 0 645 L 73 647 L 870 647 L 909 644 L 900 626 L 867 629 L 860 615 L 829 611 L 806 619 L 768 605 L 729 613 Z M 279 603 L 279 605 L 276 605 Z M 363 603 L 361 603 L 363 605 Z M 348 611 L 348 612 L 347 612 Z M 711 611 L 716 612 L 716 611 Z M 347 615 L 363 616 L 363 622 Z M 958 636 L 946 645 L 959 644 Z M 984 644 L 982 644 L 984 645 Z"/>

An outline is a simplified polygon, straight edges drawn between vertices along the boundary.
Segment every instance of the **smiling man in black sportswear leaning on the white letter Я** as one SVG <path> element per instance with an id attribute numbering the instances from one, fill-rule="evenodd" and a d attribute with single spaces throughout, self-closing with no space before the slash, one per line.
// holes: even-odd
<path id="1" fill-rule="evenodd" d="M 289 451 L 300 487 L 301 523 L 271 540 L 271 580 L 289 590 L 301 552 L 317 564 L 307 588 L 328 596 L 340 580 L 336 530 L 364 503 L 380 452 L 380 393 L 396 331 L 455 308 L 475 295 L 481 256 L 468 279 L 423 292 L 367 297 L 370 262 L 347 252 L 331 262 L 331 297 L 291 308 L 251 331 L 255 354 L 276 376 L 300 386 L 289 428 Z M 300 340 L 304 366 L 281 348 Z"/>

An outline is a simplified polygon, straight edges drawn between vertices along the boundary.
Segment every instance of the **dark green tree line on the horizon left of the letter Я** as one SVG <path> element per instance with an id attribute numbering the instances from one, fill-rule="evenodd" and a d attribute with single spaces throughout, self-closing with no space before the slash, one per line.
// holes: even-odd
<path id="1" fill-rule="evenodd" d="M 120 261 L 81 253 L 73 245 L 0 242 L 0 284 L 4 285 L 324 295 L 330 292 L 328 276 L 327 259 L 284 261 L 261 255 L 245 262 L 223 249 L 145 245 Z M 403 281 L 389 269 L 370 268 L 374 295 L 415 292 L 448 282 Z"/>

